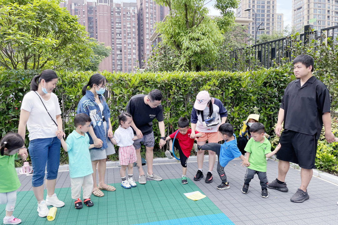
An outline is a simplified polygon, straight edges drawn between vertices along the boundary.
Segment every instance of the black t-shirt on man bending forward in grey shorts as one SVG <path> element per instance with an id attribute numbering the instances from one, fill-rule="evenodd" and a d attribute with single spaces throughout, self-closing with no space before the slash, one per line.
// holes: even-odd
<path id="1" fill-rule="evenodd" d="M 141 130 L 143 135 L 146 135 L 152 132 L 152 120 L 154 118 L 159 122 L 163 121 L 163 109 L 161 104 L 156 108 L 151 108 L 144 103 L 144 96 L 146 95 L 132 96 L 126 106 L 126 111 L 131 114 L 136 127 Z M 136 134 L 135 130 L 134 134 Z"/>

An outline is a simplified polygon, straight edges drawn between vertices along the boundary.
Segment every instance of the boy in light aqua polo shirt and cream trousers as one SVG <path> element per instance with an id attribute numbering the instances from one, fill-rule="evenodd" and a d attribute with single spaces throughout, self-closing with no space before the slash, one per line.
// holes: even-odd
<path id="1" fill-rule="evenodd" d="M 77 114 L 74 117 L 76 130 L 73 130 L 68 135 L 66 142 L 64 139 L 61 139 L 62 147 L 68 152 L 72 199 L 76 199 L 74 202 L 76 209 L 82 208 L 82 201 L 80 199 L 81 186 L 84 204 L 88 207 L 94 205 L 90 200 L 94 185 L 92 177 L 93 168 L 89 153 L 89 149 L 94 148 L 94 144 L 89 144 L 89 136 L 87 134 L 90 122 L 91 119 L 87 114 Z"/>

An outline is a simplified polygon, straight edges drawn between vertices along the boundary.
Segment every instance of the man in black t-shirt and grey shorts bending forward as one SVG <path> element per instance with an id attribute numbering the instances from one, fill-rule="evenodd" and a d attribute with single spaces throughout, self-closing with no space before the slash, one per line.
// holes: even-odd
<path id="1" fill-rule="evenodd" d="M 137 155 L 137 167 L 139 169 L 139 183 L 146 183 L 146 176 L 142 169 L 141 161 L 141 142 L 146 146 L 147 160 L 147 178 L 153 180 L 162 180 L 162 177 L 155 175 L 152 172 L 153 148 L 155 145 L 154 132 L 152 130 L 152 120 L 154 118 L 159 122 L 161 133 L 160 145 L 166 144 L 165 126 L 163 121 L 163 109 L 161 105 L 162 93 L 154 89 L 148 95 L 135 95 L 129 100 L 126 111 L 132 116 L 131 127 L 134 130 L 134 135 L 139 139 L 134 141 L 134 147 Z"/>

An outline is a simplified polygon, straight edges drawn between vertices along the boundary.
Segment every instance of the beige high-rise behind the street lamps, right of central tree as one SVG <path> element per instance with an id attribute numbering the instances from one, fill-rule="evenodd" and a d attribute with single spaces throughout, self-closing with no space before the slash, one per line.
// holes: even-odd
<path id="1" fill-rule="evenodd" d="M 239 6 L 236 10 L 236 17 L 247 17 L 252 19 L 252 23 L 248 26 L 248 32 L 255 37 L 255 13 L 256 13 L 256 29 L 260 26 L 264 30 L 258 30 L 257 36 L 266 33 L 271 34 L 272 31 L 283 30 L 283 14 L 277 14 L 277 1 L 276 0 L 240 0 Z M 245 9 L 250 9 L 245 11 Z M 281 19 L 281 20 L 278 20 Z M 278 22 L 278 23 L 277 23 Z"/>

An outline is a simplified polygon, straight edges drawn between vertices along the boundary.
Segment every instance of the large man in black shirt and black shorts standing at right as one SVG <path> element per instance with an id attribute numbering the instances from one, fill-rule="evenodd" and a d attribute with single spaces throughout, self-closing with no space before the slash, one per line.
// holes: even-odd
<path id="1" fill-rule="evenodd" d="M 289 162 L 298 164 L 301 184 L 291 197 L 292 202 L 309 199 L 307 187 L 315 168 L 317 142 L 323 124 L 327 142 L 335 141 L 331 131 L 329 90 L 312 75 L 313 64 L 310 55 L 298 55 L 293 60 L 293 73 L 297 79 L 285 89 L 275 129 L 276 135 L 281 137 L 281 149 L 277 152 L 278 178 L 268 183 L 268 188 L 287 192 L 285 176 L 290 168 Z"/>

